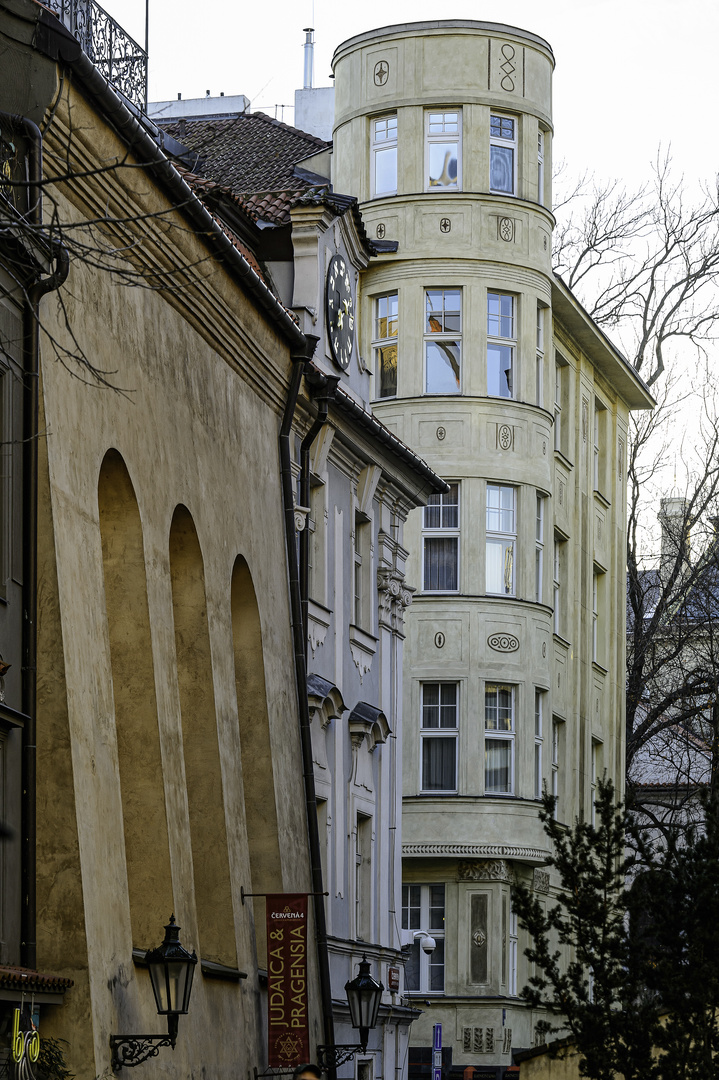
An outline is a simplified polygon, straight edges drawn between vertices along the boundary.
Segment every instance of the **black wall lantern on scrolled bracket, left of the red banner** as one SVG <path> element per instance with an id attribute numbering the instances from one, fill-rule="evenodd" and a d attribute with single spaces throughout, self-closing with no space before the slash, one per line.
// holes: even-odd
<path id="1" fill-rule="evenodd" d="M 123 1065 L 132 1068 L 149 1057 L 157 1057 L 161 1047 L 175 1049 L 177 1017 L 184 1016 L 189 1009 L 192 976 L 198 962 L 196 953 L 188 953 L 180 944 L 179 931 L 175 916 L 171 915 L 162 945 L 145 955 L 158 1013 L 167 1017 L 167 1035 L 111 1035 L 112 1068 L 116 1070 Z"/>

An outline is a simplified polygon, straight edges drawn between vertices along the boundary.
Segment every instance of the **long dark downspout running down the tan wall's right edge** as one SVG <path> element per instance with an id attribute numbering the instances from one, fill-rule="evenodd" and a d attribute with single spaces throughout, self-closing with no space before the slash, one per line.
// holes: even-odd
<path id="1" fill-rule="evenodd" d="M 302 622 L 302 600 L 300 592 L 299 566 L 295 534 L 295 499 L 293 492 L 293 469 L 289 437 L 293 418 L 297 407 L 300 383 L 318 338 L 306 335 L 307 346 L 302 352 L 293 353 L 293 375 L 287 393 L 287 402 L 280 429 L 280 467 L 282 470 L 282 499 L 285 512 L 285 543 L 287 568 L 289 571 L 289 607 L 295 654 L 295 679 L 297 683 L 297 704 L 300 721 L 300 744 L 302 747 L 302 777 L 304 781 L 304 806 L 307 810 L 310 864 L 312 869 L 312 891 L 314 900 L 314 923 L 317 937 L 317 966 L 320 971 L 320 995 L 324 1020 L 325 1045 L 335 1045 L 335 1023 L 333 1018 L 333 991 L 329 978 L 329 953 L 327 949 L 327 924 L 325 921 L 324 882 L 320 853 L 320 829 L 317 827 L 317 804 L 314 792 L 314 765 L 312 760 L 312 733 L 310 730 L 310 703 L 307 692 L 307 664 L 304 658 L 304 625 Z M 329 1080 L 335 1080 L 336 1070 L 327 1069 Z"/>

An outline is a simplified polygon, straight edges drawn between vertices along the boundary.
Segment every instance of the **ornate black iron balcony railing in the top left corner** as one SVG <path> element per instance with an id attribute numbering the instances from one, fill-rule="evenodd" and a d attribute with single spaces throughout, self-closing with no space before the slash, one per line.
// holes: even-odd
<path id="1" fill-rule="evenodd" d="M 76 36 L 107 81 L 139 109 L 147 106 L 147 53 L 95 0 L 43 0 Z"/>

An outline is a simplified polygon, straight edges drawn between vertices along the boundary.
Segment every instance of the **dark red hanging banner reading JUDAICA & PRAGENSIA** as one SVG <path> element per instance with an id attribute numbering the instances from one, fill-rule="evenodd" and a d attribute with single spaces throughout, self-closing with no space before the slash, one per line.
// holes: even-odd
<path id="1" fill-rule="evenodd" d="M 267 896 L 268 1053 L 270 1068 L 310 1059 L 307 1013 L 307 895 Z"/>

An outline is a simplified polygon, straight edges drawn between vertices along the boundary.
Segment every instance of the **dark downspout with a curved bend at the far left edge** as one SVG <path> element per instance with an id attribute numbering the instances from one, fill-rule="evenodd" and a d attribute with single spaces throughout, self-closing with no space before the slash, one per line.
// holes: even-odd
<path id="1" fill-rule="evenodd" d="M 28 117 L 0 111 L 0 121 L 27 138 L 29 152 L 29 207 L 27 217 L 39 234 L 42 229 L 42 133 Z M 38 235 L 38 239 L 40 237 Z M 55 242 L 55 270 L 26 292 L 23 332 L 23 639 L 22 708 L 27 717 L 23 729 L 23 798 L 21 863 L 23 901 L 21 909 L 21 963 L 37 967 L 37 658 L 38 658 L 38 414 L 40 382 L 39 306 L 45 293 L 59 288 L 68 275 L 70 260 Z"/>

